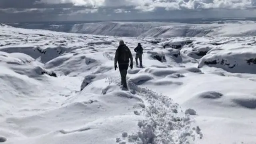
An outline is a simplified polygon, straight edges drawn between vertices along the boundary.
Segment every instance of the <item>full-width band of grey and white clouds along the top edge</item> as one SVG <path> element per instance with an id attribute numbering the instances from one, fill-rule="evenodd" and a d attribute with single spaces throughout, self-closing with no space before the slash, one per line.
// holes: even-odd
<path id="1" fill-rule="evenodd" d="M 135 10 L 202 10 L 202 9 L 251 9 L 256 0 L 0 0 L 0 8 L 120 8 L 133 7 Z"/>

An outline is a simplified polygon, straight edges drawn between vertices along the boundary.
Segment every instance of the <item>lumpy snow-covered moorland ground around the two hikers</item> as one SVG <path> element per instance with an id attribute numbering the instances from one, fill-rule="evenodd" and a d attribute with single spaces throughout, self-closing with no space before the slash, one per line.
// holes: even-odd
<path id="1" fill-rule="evenodd" d="M 223 30 L 224 31 L 224 30 Z M 144 47 L 120 88 L 114 52 Z M 255 144 L 255 37 L 132 38 L 0 24 L 0 142 Z"/>

